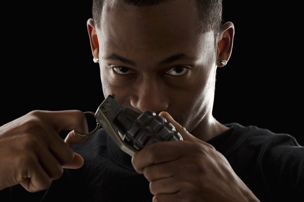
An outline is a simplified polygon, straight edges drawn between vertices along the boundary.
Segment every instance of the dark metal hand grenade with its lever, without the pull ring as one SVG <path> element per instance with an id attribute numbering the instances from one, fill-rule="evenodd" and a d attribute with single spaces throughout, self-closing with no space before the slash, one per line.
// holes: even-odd
<path id="1" fill-rule="evenodd" d="M 95 118 L 97 124 L 130 156 L 154 142 L 182 140 L 175 127 L 165 118 L 153 111 L 140 114 L 124 108 L 115 100 L 115 94 L 108 95 L 100 104 Z"/>

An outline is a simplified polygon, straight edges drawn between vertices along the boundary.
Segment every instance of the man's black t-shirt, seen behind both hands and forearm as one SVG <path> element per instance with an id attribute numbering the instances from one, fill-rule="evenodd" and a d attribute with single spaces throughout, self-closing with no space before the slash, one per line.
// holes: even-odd
<path id="1" fill-rule="evenodd" d="M 229 130 L 208 141 L 225 156 L 215 169 L 235 172 L 261 201 L 304 201 L 304 147 L 288 134 L 256 126 L 226 124 Z M 65 169 L 49 189 L 29 193 L 16 185 L 0 191 L 1 201 L 151 201 L 149 183 L 135 172 L 131 157 L 100 129 L 73 150 L 82 155 L 81 169 Z"/>

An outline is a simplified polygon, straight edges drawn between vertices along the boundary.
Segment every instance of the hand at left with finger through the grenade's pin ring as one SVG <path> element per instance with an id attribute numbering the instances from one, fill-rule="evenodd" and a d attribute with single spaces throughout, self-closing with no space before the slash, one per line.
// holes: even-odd
<path id="1" fill-rule="evenodd" d="M 62 130 L 70 131 L 63 140 Z M 83 158 L 69 145 L 86 138 L 85 114 L 77 110 L 32 111 L 0 127 L 0 190 L 21 184 L 27 191 L 47 189 L 63 174 L 63 168 L 82 167 Z"/>

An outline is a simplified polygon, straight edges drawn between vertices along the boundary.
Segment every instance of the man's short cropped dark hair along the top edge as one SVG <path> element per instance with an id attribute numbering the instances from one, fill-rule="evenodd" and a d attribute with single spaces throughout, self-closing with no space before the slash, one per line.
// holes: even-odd
<path id="1" fill-rule="evenodd" d="M 119 3 L 134 7 L 156 6 L 168 1 L 189 1 L 189 0 L 118 0 Z M 199 32 L 205 33 L 214 31 L 217 33 L 222 24 L 222 0 L 195 0 L 198 9 L 200 27 Z M 93 0 L 92 15 L 97 28 L 101 28 L 102 11 L 108 9 L 112 0 Z M 108 5 L 106 5 L 108 4 Z M 122 5 L 119 5 L 122 6 Z M 104 8 L 107 7 L 107 8 Z M 166 8 L 164 8 L 166 9 Z"/>

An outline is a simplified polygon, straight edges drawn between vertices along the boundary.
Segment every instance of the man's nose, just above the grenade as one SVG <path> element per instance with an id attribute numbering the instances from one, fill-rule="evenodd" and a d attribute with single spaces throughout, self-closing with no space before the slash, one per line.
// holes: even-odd
<path id="1" fill-rule="evenodd" d="M 131 106 L 142 112 L 150 110 L 156 113 L 167 110 L 169 100 L 162 84 L 158 81 L 143 81 L 131 96 Z"/>

